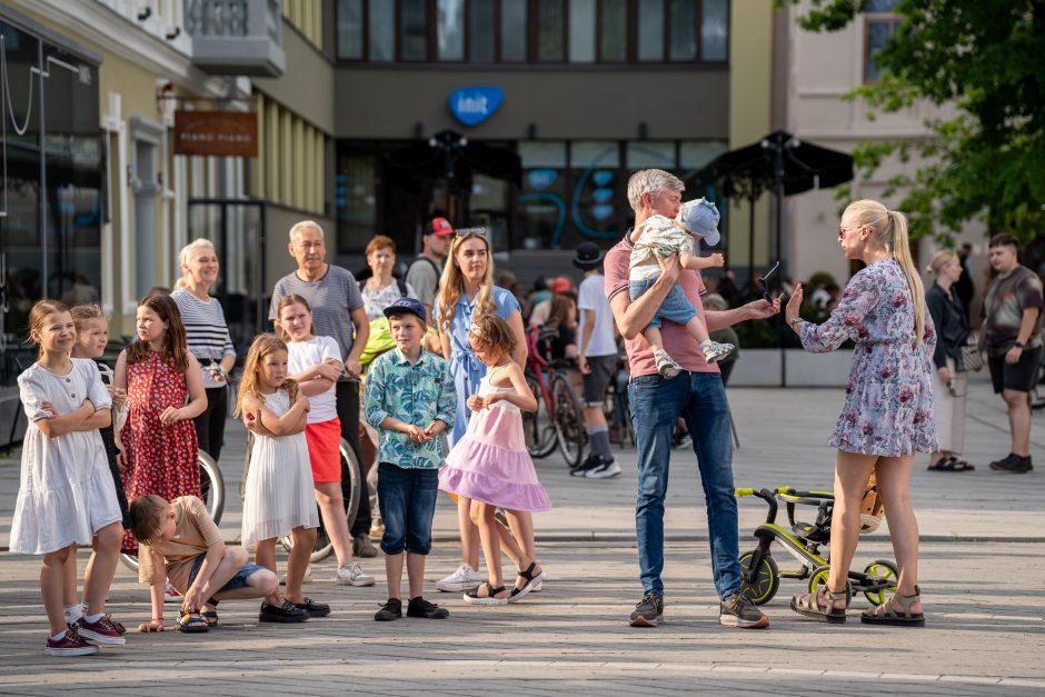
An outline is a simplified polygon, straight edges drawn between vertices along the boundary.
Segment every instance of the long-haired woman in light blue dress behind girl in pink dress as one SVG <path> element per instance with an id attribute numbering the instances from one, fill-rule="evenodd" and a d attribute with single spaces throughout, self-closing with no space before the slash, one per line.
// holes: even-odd
<path id="1" fill-rule="evenodd" d="M 526 365 L 526 333 L 519 301 L 510 291 L 494 285 L 494 259 L 484 228 L 460 230 L 450 245 L 447 263 L 439 280 L 432 311 L 442 356 L 450 365 L 454 387 L 457 388 L 457 416 L 454 432 L 449 435 L 450 447 L 465 435 L 471 412 L 466 402 L 479 391 L 479 382 L 486 375 L 482 365 L 468 341 L 468 328 L 476 313 L 496 312 L 508 322 L 516 338 L 511 358 Z M 471 521 L 471 499 L 459 497 L 457 522 L 461 536 L 461 566 L 436 584 L 445 591 L 470 590 L 482 581 L 476 569 L 479 567 L 479 530 Z M 512 531 L 529 558 L 534 558 L 534 522 L 529 514 L 509 516 Z M 507 541 L 507 540 L 502 540 Z M 510 552 L 510 546 L 506 548 Z"/>

